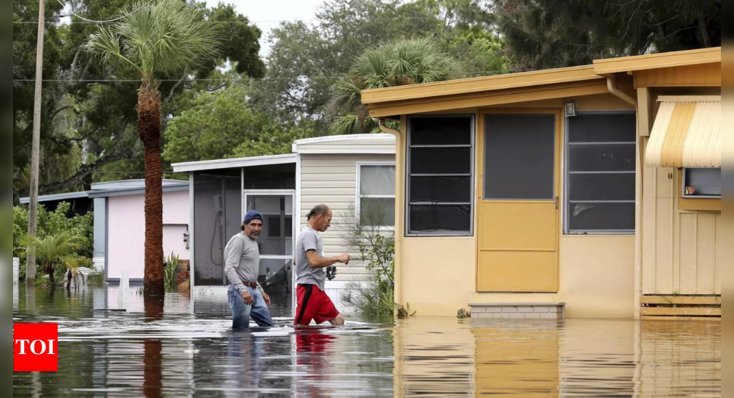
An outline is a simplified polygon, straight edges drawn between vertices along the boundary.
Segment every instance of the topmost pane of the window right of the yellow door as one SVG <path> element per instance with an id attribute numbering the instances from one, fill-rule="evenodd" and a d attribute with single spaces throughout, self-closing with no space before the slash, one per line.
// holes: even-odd
<path id="1" fill-rule="evenodd" d="M 634 142 L 635 114 L 579 114 L 568 118 L 569 142 Z"/>

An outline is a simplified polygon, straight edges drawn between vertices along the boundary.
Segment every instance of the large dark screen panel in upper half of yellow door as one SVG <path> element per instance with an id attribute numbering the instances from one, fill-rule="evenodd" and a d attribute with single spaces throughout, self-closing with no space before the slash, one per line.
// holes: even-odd
<path id="1" fill-rule="evenodd" d="M 487 115 L 484 199 L 553 199 L 556 117 Z"/>

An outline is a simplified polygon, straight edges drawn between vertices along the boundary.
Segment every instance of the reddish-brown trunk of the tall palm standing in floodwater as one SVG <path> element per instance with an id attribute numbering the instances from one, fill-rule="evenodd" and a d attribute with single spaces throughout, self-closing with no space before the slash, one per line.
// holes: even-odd
<path id="1" fill-rule="evenodd" d="M 164 295 L 161 93 L 150 81 L 138 90 L 138 135 L 145 147 L 145 295 Z"/>

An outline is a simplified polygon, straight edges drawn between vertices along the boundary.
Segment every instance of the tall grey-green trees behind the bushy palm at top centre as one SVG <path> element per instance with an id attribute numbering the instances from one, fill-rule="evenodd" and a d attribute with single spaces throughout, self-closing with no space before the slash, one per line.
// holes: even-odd
<path id="1" fill-rule="evenodd" d="M 321 133 L 334 116 L 327 108 L 335 84 L 355 59 L 400 38 L 433 40 L 470 75 L 501 73 L 505 56 L 490 11 L 482 0 L 325 1 L 315 23 L 273 29 L 267 79 L 255 84 L 253 106 L 281 121 L 316 120 Z"/>

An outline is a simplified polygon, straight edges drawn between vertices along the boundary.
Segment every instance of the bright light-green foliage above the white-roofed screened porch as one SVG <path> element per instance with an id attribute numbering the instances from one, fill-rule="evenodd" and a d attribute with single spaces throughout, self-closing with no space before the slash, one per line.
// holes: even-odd
<path id="1" fill-rule="evenodd" d="M 255 111 L 247 86 L 233 84 L 216 92 L 200 92 L 192 108 L 168 123 L 163 157 L 170 163 L 279 155 L 291 152 L 295 139 L 307 138 L 315 123 L 282 124 Z"/>

